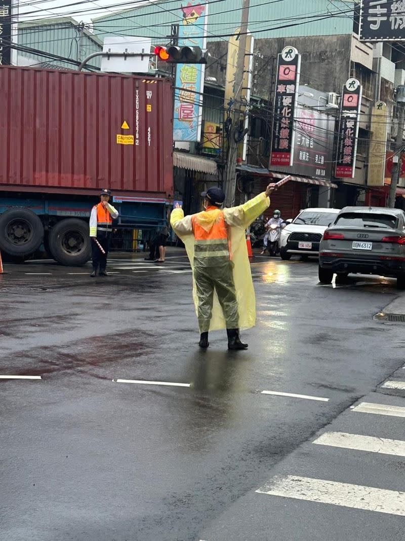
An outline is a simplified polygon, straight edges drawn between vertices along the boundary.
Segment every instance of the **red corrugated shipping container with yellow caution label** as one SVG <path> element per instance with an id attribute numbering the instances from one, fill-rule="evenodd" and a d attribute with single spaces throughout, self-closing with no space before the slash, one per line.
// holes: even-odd
<path id="1" fill-rule="evenodd" d="M 0 96 L 0 189 L 172 194 L 168 79 L 2 66 Z"/>

